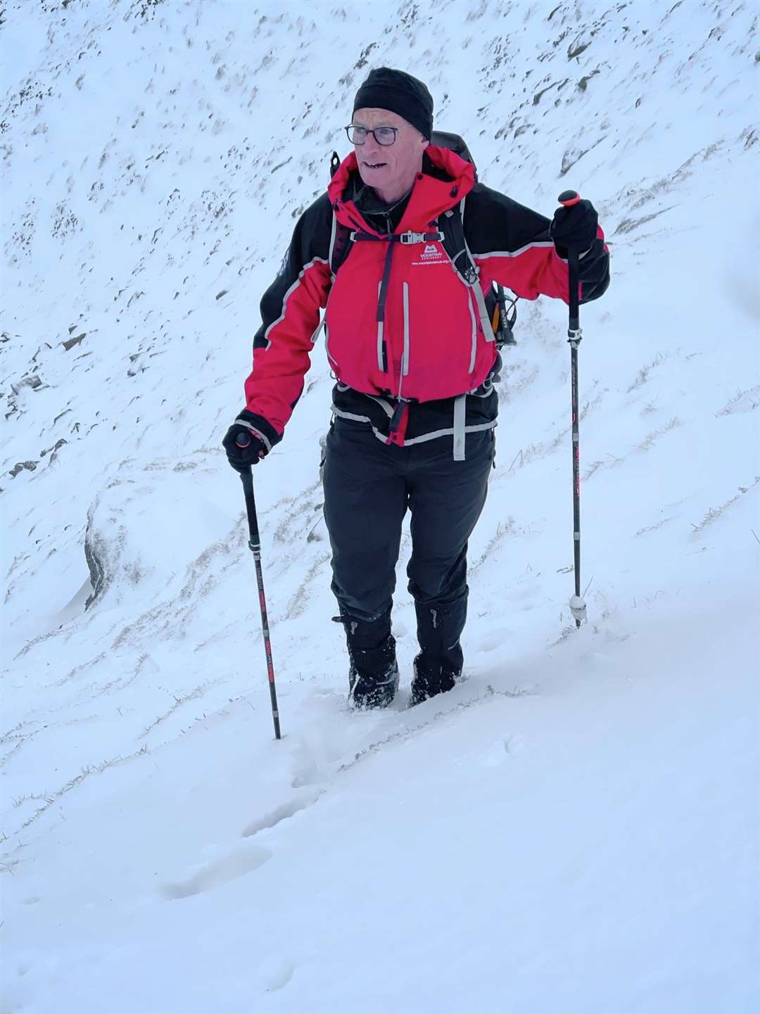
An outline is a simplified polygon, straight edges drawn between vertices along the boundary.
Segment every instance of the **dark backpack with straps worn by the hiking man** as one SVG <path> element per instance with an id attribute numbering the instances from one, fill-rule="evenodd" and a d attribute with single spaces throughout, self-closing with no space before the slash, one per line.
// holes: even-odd
<path id="1" fill-rule="evenodd" d="M 445 131 L 433 131 L 430 143 L 438 148 L 448 148 L 460 158 L 470 162 L 475 169 L 475 180 L 478 179 L 478 170 L 475 161 L 470 154 L 467 143 L 459 134 L 448 134 Z M 330 175 L 334 176 L 340 166 L 340 156 L 337 151 L 333 152 L 330 159 Z M 472 285 L 478 277 L 478 269 L 472 259 L 465 241 L 465 227 L 462 221 L 462 206 L 455 205 L 450 211 L 443 213 L 445 229 L 441 245 L 448 255 L 452 264 L 465 285 Z M 341 265 L 351 251 L 351 230 L 335 222 L 335 237 L 332 244 L 330 258 L 330 270 L 333 276 L 337 275 Z M 517 297 L 508 299 L 503 285 L 494 283 L 490 292 L 485 293 L 485 304 L 488 316 L 491 321 L 491 330 L 496 340 L 496 348 L 500 351 L 505 346 L 516 345 L 513 328 L 517 319 Z M 494 377 L 497 379 L 497 377 Z"/>

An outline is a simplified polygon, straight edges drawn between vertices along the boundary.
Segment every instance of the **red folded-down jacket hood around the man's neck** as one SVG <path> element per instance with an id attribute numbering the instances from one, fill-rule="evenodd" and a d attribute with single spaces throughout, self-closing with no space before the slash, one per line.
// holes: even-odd
<path id="1" fill-rule="evenodd" d="M 358 175 L 356 153 L 343 159 L 328 187 L 330 203 L 342 218 L 341 212 L 353 208 L 349 195 L 353 193 L 352 176 Z M 422 172 L 412 189 L 409 210 L 423 224 L 435 219 L 458 204 L 475 186 L 475 166 L 448 148 L 428 145 Z M 355 210 L 355 209 L 354 209 Z M 404 216 L 405 220 L 407 215 Z"/>

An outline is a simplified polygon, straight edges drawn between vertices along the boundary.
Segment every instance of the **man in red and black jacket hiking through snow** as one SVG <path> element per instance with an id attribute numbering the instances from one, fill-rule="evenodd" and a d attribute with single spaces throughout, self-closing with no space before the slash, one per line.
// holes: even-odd
<path id="1" fill-rule="evenodd" d="M 609 283 L 590 202 L 560 208 L 550 223 L 476 184 L 470 162 L 430 144 L 432 112 L 425 85 L 402 71 L 373 70 L 359 88 L 347 128 L 354 150 L 301 216 L 264 294 L 246 409 L 223 441 L 244 470 L 282 438 L 325 308 L 337 378 L 325 519 L 349 693 L 363 707 L 387 706 L 398 687 L 391 607 L 407 508 L 420 647 L 412 702 L 450 690 L 462 672 L 467 542 L 486 498 L 498 408 L 484 293 L 495 282 L 567 302 L 570 247 L 582 302 Z M 443 239 L 458 222 L 466 248 L 450 256 Z"/>

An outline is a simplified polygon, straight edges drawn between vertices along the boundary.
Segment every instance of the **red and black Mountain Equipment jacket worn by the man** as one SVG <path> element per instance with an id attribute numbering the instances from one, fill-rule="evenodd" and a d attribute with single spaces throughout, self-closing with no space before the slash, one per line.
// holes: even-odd
<path id="1" fill-rule="evenodd" d="M 360 186 L 352 153 L 295 226 L 261 302 L 263 322 L 246 381 L 246 408 L 255 418 L 248 418 L 270 445 L 282 438 L 324 309 L 337 416 L 406 444 L 453 435 L 457 426 L 495 426 L 497 399 L 489 378 L 497 350 L 484 294 L 496 282 L 524 299 L 568 301 L 567 264 L 549 237 L 549 219 L 477 184 L 471 163 L 432 145 L 391 236 L 357 206 Z M 472 285 L 441 242 L 446 212 L 458 205 L 479 271 Z M 350 249 L 333 274 L 338 231 L 350 231 Z M 609 278 L 600 229 L 580 260 L 581 301 L 601 296 Z"/>

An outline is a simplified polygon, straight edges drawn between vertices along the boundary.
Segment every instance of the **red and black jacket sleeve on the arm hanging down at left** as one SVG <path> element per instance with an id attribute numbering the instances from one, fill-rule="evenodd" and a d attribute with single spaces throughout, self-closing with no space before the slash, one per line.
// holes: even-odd
<path id="1" fill-rule="evenodd" d="M 331 226 L 332 209 L 323 197 L 298 220 L 282 267 L 262 297 L 246 409 L 270 445 L 282 439 L 303 390 L 320 310 L 330 291 Z"/>

